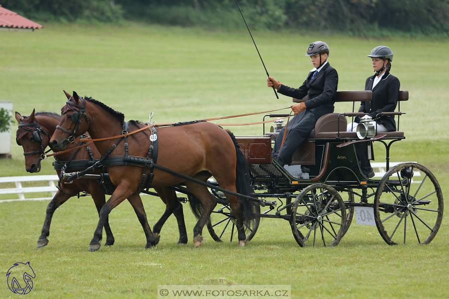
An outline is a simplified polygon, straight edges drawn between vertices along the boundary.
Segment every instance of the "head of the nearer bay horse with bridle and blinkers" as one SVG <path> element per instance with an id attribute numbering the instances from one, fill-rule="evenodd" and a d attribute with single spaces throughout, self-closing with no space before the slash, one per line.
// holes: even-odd
<path id="1" fill-rule="evenodd" d="M 59 130 L 55 131 L 50 140 L 51 146 L 57 150 L 64 149 L 68 142 L 74 143 L 76 137 L 89 129 L 89 121 L 85 113 L 87 101 L 80 98 L 76 92 L 73 92 L 72 96 L 65 91 L 64 93 L 67 102 L 61 108 L 61 119 L 56 126 Z"/>

